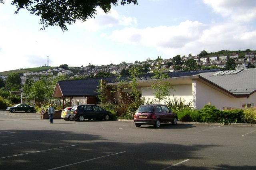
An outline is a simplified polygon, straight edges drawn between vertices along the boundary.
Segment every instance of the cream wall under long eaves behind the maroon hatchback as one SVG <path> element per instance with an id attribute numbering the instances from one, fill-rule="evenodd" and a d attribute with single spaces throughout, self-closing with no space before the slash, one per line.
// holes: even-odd
<path id="1" fill-rule="evenodd" d="M 178 86 L 173 86 L 174 89 L 170 90 L 170 100 L 173 99 L 173 95 L 175 98 L 180 99 L 180 97 L 182 98 L 182 100 L 185 100 L 186 103 L 189 103 L 190 101 L 193 102 L 193 92 L 192 92 L 192 84 L 188 84 L 188 85 L 178 85 Z M 155 99 L 155 95 L 153 94 L 154 90 L 152 90 L 151 88 L 147 88 L 147 87 L 143 87 L 141 88 L 141 95 L 146 97 L 146 100 L 148 98 L 151 99 Z M 157 102 L 155 102 L 157 103 Z M 161 104 L 164 104 L 164 101 L 161 101 Z"/>

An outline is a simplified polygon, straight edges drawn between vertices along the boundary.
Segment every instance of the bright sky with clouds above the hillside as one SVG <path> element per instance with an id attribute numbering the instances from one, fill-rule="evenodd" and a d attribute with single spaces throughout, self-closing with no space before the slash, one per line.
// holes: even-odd
<path id="1" fill-rule="evenodd" d="M 97 9 L 94 19 L 40 30 L 40 17 L 12 0 L 0 4 L 0 72 L 170 59 L 221 50 L 256 50 L 256 0 L 138 0 Z M 120 0 L 119 0 L 120 1 Z"/>

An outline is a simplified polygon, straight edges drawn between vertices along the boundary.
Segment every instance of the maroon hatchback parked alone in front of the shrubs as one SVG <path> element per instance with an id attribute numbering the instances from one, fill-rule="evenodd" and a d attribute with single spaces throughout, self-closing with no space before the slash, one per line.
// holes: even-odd
<path id="1" fill-rule="evenodd" d="M 160 127 L 160 123 L 171 122 L 176 125 L 178 116 L 172 112 L 166 105 L 150 104 L 141 105 L 133 119 L 136 127 L 141 125 L 154 125 L 156 128 Z"/>

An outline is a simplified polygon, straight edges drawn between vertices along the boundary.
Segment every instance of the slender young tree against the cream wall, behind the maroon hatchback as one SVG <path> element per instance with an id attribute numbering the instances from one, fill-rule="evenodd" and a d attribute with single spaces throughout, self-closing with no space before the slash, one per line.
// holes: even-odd
<path id="1" fill-rule="evenodd" d="M 154 70 L 153 73 L 154 76 L 152 76 L 152 79 L 154 82 L 150 87 L 155 91 L 153 94 L 158 100 L 158 103 L 161 104 L 161 101 L 166 99 L 166 96 L 170 93 L 170 89 L 173 89 L 173 87 L 168 81 L 166 81 L 166 79 L 169 78 L 166 73 L 164 74 L 159 70 Z"/>

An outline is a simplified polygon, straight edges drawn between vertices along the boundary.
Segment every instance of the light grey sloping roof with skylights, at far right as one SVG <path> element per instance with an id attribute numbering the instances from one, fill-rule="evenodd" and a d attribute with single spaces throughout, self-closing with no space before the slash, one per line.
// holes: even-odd
<path id="1" fill-rule="evenodd" d="M 234 95 L 250 95 L 256 92 L 256 68 L 206 72 L 199 76 Z"/>

